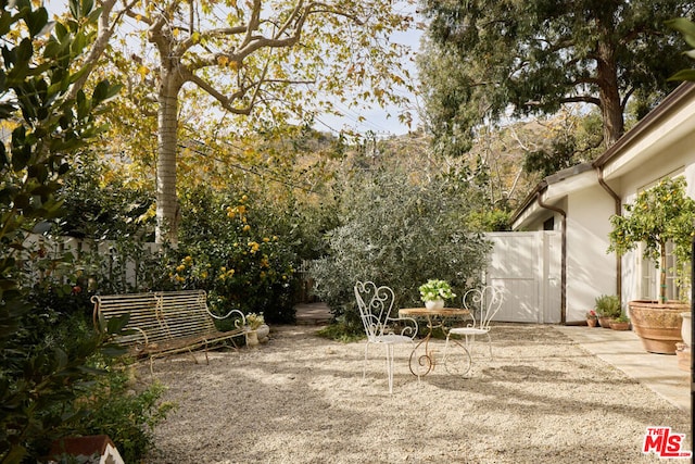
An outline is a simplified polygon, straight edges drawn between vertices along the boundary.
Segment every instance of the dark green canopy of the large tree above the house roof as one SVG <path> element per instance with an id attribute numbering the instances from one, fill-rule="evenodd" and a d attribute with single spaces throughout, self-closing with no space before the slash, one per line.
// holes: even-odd
<path id="1" fill-rule="evenodd" d="M 419 64 L 434 135 L 466 150 L 482 121 L 587 103 L 599 109 L 609 147 L 631 97 L 672 87 L 666 79 L 685 58 L 664 23 L 692 10 L 683 0 L 427 0 Z"/>

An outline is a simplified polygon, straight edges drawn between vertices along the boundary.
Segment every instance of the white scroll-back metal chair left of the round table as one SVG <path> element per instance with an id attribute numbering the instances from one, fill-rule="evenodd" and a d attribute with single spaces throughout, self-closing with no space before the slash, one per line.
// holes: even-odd
<path id="1" fill-rule="evenodd" d="M 389 287 L 377 287 L 372 281 L 357 281 L 355 299 L 367 335 L 362 378 L 364 380 L 367 373 L 369 344 L 383 344 L 387 354 L 389 393 L 393 393 L 393 347 L 413 343 L 417 335 L 417 322 L 412 317 L 391 317 L 394 294 Z"/>

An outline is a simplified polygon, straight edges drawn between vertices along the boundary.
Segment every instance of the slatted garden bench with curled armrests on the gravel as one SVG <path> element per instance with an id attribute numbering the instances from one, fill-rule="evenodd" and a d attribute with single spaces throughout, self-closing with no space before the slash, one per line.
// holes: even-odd
<path id="1" fill-rule="evenodd" d="M 125 329 L 130 335 L 119 336 L 116 342 L 130 348 L 137 358 L 192 352 L 203 348 L 205 361 L 208 346 L 245 337 L 245 317 L 239 310 L 231 310 L 225 316 L 216 316 L 207 309 L 205 291 L 156 291 L 149 293 L 126 293 L 94 296 L 93 321 L 98 330 L 103 330 L 110 318 L 129 314 Z M 219 331 L 214 319 L 236 317 L 235 329 Z M 193 358 L 194 359 L 194 358 Z"/>

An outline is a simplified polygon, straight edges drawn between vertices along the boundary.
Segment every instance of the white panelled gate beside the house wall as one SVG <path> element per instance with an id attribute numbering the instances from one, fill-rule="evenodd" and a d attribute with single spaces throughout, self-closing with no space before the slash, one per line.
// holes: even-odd
<path id="1" fill-rule="evenodd" d="M 506 290 L 495 319 L 560 323 L 560 233 L 490 233 L 485 237 L 493 242 L 488 284 Z"/>

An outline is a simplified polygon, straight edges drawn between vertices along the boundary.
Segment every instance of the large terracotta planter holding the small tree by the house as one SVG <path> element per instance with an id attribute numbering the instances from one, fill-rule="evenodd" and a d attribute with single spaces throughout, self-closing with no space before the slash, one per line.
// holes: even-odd
<path id="1" fill-rule="evenodd" d="M 687 303 L 635 300 L 630 303 L 630 319 L 634 333 L 649 353 L 675 354 L 675 343 L 683 341 L 681 313 Z"/>

